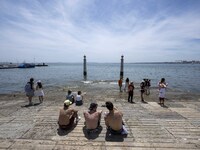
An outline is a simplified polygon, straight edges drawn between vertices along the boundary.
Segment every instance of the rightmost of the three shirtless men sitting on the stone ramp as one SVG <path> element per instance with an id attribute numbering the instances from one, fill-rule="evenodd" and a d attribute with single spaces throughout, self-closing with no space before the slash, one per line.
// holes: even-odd
<path id="1" fill-rule="evenodd" d="M 111 134 L 128 134 L 123 125 L 123 113 L 114 108 L 112 102 L 106 102 L 106 108 L 109 110 L 109 113 L 105 114 L 104 120 Z"/>

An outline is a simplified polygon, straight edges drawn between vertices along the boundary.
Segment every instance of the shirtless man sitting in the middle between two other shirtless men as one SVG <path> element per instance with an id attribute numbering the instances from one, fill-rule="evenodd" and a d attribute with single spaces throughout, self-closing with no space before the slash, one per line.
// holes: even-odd
<path id="1" fill-rule="evenodd" d="M 101 111 L 97 111 L 97 104 L 91 103 L 89 111 L 83 112 L 85 117 L 85 125 L 88 132 L 97 131 L 96 129 L 100 126 Z"/>

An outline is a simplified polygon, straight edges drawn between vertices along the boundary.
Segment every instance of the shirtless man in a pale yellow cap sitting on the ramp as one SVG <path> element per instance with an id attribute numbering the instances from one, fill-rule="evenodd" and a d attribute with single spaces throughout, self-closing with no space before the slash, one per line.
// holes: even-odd
<path id="1" fill-rule="evenodd" d="M 70 100 L 64 101 L 64 107 L 60 109 L 58 124 L 61 129 L 70 129 L 74 125 L 74 119 L 78 122 L 78 111 L 70 108 L 72 102 Z"/>

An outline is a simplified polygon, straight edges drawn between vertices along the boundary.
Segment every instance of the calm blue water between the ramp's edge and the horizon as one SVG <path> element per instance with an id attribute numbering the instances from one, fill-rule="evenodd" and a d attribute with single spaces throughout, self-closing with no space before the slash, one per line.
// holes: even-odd
<path id="1" fill-rule="evenodd" d="M 35 81 L 41 80 L 46 88 L 79 86 L 83 82 L 117 84 L 120 64 L 88 63 L 87 73 L 85 81 L 82 63 L 56 63 L 49 64 L 48 67 L 31 69 L 1 69 L 0 94 L 23 92 L 24 85 L 30 77 Z M 135 83 L 140 83 L 143 78 L 149 78 L 152 87 L 156 87 L 158 81 L 164 77 L 170 89 L 200 92 L 199 64 L 124 64 L 124 78 L 126 77 Z"/>

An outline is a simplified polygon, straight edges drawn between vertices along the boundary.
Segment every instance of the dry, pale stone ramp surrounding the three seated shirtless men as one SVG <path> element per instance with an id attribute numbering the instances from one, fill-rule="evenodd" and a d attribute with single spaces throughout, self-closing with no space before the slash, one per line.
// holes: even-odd
<path id="1" fill-rule="evenodd" d="M 101 106 L 104 102 L 99 102 Z M 66 150 L 193 150 L 200 149 L 199 102 L 173 102 L 168 108 L 156 102 L 130 104 L 115 101 L 124 113 L 128 136 L 109 136 L 102 116 L 102 130 L 88 136 L 84 130 L 83 111 L 89 104 L 77 107 L 81 120 L 70 131 L 58 129 L 61 103 L 41 104 L 15 109 L 0 117 L 0 149 L 66 149 Z M 105 107 L 99 107 L 103 112 Z M 103 115 L 103 114 L 102 114 Z"/>

